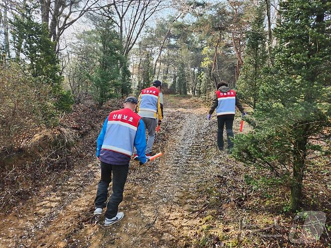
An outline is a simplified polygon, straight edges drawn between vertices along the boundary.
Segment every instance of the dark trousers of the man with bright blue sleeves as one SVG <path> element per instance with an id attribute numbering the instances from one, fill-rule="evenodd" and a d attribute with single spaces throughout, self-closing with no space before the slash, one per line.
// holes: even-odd
<path id="1" fill-rule="evenodd" d="M 126 178 L 129 172 L 129 164 L 124 166 L 116 166 L 101 162 L 101 180 L 98 185 L 97 197 L 94 201 L 96 208 L 106 207 L 108 197 L 108 186 L 110 184 L 113 173 L 113 193 L 107 204 L 106 218 L 113 218 L 118 211 L 118 205 L 123 200 L 123 191 Z"/>

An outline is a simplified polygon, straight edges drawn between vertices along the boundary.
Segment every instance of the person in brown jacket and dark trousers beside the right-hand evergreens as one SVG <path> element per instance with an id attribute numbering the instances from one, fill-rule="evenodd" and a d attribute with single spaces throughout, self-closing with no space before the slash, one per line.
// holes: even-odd
<path id="1" fill-rule="evenodd" d="M 239 99 L 236 96 L 234 90 L 230 90 L 225 82 L 220 82 L 217 86 L 217 91 L 215 92 L 215 96 L 213 98 L 212 106 L 209 110 L 209 114 L 207 115 L 207 119 L 211 119 L 211 115 L 216 109 L 217 114 L 217 145 L 220 150 L 223 150 L 224 142 L 223 142 L 223 130 L 224 124 L 226 126 L 226 136 L 227 136 L 227 148 L 231 151 L 233 147 L 233 142 L 230 137 L 233 137 L 233 120 L 235 114 L 235 106 L 241 112 L 241 117 L 244 117 L 246 113 L 242 105 L 239 102 Z"/>

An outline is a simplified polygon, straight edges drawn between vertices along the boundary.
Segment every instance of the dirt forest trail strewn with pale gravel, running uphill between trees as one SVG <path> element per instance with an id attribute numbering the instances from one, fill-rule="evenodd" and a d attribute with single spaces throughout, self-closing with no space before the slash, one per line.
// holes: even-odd
<path id="1" fill-rule="evenodd" d="M 154 143 L 154 151 L 164 155 L 140 169 L 131 162 L 122 221 L 104 227 L 103 215 L 93 216 L 100 179 L 96 160 L 2 217 L 0 247 L 190 247 L 188 237 L 207 205 L 198 186 L 219 170 L 203 161 L 208 148 L 203 140 L 213 125 L 206 113 L 201 102 L 177 97 L 165 102 Z"/>

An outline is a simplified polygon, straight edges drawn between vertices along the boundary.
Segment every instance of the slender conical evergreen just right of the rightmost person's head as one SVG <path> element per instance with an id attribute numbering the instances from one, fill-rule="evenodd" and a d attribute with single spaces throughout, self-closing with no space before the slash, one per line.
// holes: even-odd
<path id="1" fill-rule="evenodd" d="M 259 92 L 263 81 L 263 68 L 267 62 L 266 33 L 265 33 L 265 10 L 266 5 L 261 2 L 255 7 L 251 31 L 246 35 L 246 49 L 244 66 L 236 86 L 243 103 L 256 108 L 259 102 Z"/>

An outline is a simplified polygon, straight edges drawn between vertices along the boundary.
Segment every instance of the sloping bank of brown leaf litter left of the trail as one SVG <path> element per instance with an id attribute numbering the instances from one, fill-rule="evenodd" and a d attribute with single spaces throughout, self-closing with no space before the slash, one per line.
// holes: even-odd
<path id="1" fill-rule="evenodd" d="M 121 107 L 120 102 L 111 100 L 97 108 L 88 99 L 62 116 L 58 127 L 40 127 L 20 148 L 5 149 L 0 160 L 0 213 L 10 212 L 43 186 L 70 176 L 74 166 L 86 166 L 94 159 L 101 126 L 110 111 Z"/>

